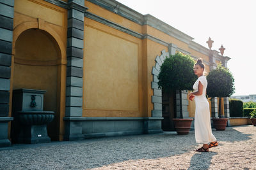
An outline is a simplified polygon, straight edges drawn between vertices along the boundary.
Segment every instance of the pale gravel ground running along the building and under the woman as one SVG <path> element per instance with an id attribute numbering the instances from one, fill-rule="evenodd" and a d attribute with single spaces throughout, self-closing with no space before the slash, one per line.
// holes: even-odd
<path id="1" fill-rule="evenodd" d="M 0 169 L 256 169 L 256 127 L 212 131 L 220 145 L 196 153 L 195 134 L 86 139 L 0 148 Z"/>

